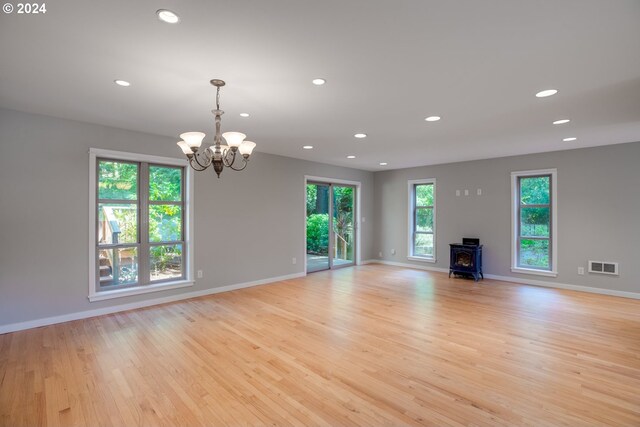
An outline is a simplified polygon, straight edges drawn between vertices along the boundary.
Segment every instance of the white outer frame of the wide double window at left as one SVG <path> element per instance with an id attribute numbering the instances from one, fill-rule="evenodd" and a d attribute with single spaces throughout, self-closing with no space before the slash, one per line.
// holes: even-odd
<path id="1" fill-rule="evenodd" d="M 186 249 L 185 278 L 140 285 L 124 289 L 100 290 L 96 284 L 96 178 L 98 159 L 113 159 L 132 162 L 147 162 L 154 165 L 179 166 L 185 168 L 185 224 L 184 245 Z M 102 301 L 112 298 L 120 298 L 130 295 L 140 295 L 149 292 L 165 291 L 169 289 L 186 288 L 193 286 L 193 170 L 186 160 L 171 157 L 159 157 L 147 154 L 130 153 L 126 151 L 103 150 L 99 148 L 89 149 L 89 301 Z"/>

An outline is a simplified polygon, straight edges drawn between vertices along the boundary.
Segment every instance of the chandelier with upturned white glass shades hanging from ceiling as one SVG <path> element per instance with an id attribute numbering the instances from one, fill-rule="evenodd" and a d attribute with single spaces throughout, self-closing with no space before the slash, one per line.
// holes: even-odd
<path id="1" fill-rule="evenodd" d="M 220 109 L 220 88 L 225 85 L 225 82 L 224 80 L 213 79 L 211 84 L 216 87 L 216 109 L 211 110 L 216 121 L 216 135 L 213 145 L 200 150 L 205 134 L 203 132 L 185 132 L 180 135 L 182 141 L 178 142 L 178 146 L 187 155 L 189 165 L 194 170 L 203 171 L 209 166 L 213 166 L 213 170 L 220 178 L 220 174 L 225 167 L 235 171 L 241 171 L 246 168 L 249 156 L 256 143 L 245 141 L 244 139 L 247 136 L 240 132 L 220 134 L 220 117 L 224 114 L 224 111 Z M 222 138 L 225 139 L 228 145 L 222 144 Z"/>

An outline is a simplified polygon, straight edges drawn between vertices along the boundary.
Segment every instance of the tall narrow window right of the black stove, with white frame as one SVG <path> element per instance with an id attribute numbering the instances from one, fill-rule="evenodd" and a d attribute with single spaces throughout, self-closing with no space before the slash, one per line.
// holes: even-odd
<path id="1" fill-rule="evenodd" d="M 511 271 L 556 276 L 556 170 L 511 174 Z"/>

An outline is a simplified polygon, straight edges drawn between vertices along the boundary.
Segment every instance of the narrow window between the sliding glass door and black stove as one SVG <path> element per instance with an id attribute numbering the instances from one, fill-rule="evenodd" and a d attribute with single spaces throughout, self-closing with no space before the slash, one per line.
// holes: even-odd
<path id="1" fill-rule="evenodd" d="M 436 261 L 436 180 L 409 181 L 408 258 Z"/>

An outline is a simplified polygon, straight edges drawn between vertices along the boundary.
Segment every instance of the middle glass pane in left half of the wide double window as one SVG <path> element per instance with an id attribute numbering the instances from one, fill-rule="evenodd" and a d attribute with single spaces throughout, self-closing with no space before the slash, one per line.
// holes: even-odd
<path id="1" fill-rule="evenodd" d="M 138 205 L 98 204 L 98 244 L 138 242 Z"/>

